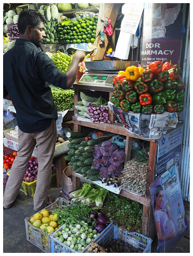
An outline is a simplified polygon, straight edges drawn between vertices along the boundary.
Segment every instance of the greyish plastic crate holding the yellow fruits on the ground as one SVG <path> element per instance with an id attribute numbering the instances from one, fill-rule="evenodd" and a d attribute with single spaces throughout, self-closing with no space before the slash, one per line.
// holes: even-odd
<path id="1" fill-rule="evenodd" d="M 67 204 L 72 204 L 72 203 L 68 200 L 65 200 L 64 198 L 59 197 L 56 199 L 56 202 L 48 205 L 44 209 L 47 209 L 48 211 L 50 211 L 51 209 L 55 208 L 58 204 L 67 205 Z M 31 216 L 31 217 L 33 217 L 33 216 Z M 46 232 L 33 226 L 30 223 L 31 217 L 25 218 L 27 241 L 31 242 L 32 244 L 34 244 L 35 246 L 40 248 L 43 252 L 51 253 L 50 235 L 47 236 Z"/>

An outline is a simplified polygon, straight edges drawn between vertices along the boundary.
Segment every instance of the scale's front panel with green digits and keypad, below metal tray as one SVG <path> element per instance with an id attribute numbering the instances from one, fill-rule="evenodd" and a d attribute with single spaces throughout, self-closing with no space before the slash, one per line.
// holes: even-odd
<path id="1" fill-rule="evenodd" d="M 112 86 L 114 76 L 112 74 L 83 74 L 78 84 L 82 85 L 98 85 L 98 86 Z"/>

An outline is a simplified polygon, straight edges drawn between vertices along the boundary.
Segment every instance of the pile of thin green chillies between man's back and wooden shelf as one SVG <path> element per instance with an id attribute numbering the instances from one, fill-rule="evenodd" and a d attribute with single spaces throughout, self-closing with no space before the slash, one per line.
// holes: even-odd
<path id="1" fill-rule="evenodd" d="M 66 89 L 49 85 L 52 91 L 54 103 L 57 111 L 64 111 L 65 109 L 74 109 L 74 90 Z"/>

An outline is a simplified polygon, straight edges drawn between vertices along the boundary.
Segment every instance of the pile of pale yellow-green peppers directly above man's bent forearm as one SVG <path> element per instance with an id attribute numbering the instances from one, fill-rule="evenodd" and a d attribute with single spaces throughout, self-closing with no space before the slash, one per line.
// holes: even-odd
<path id="1" fill-rule="evenodd" d="M 73 55 L 69 56 L 68 54 L 60 51 L 49 52 L 47 55 L 54 62 L 54 65 L 63 73 L 68 70 L 73 59 Z"/>

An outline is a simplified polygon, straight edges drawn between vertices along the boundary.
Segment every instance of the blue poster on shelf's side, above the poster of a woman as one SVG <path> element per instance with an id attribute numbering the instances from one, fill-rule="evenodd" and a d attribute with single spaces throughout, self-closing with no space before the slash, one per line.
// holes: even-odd
<path id="1" fill-rule="evenodd" d="M 181 157 L 183 123 L 158 139 L 156 172 L 160 175 L 170 166 L 178 164 Z"/>

